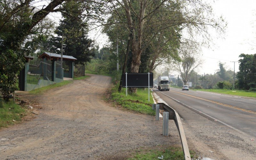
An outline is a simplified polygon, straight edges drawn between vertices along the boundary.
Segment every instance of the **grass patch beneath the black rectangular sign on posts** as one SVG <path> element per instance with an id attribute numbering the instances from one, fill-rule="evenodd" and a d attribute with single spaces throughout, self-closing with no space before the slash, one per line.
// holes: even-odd
<path id="1" fill-rule="evenodd" d="M 127 95 L 125 93 L 125 88 L 122 89 L 121 93 L 118 91 L 118 85 L 115 85 L 112 88 L 112 100 L 116 103 L 120 104 L 122 107 L 127 108 L 129 110 L 137 111 L 139 113 L 155 115 L 155 111 L 152 110 L 152 103 L 154 103 L 153 98 L 151 96 L 151 91 L 149 95 L 148 102 L 148 89 L 137 89 L 137 93 L 134 95 Z"/>

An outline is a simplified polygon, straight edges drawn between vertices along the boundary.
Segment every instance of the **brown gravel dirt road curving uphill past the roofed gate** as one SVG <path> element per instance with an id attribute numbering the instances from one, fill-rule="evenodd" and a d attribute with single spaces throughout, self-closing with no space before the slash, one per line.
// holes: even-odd
<path id="1" fill-rule="evenodd" d="M 39 114 L 0 130 L 0 159 L 122 159 L 140 147 L 180 146 L 172 121 L 170 136 L 162 136 L 162 121 L 107 104 L 110 82 L 91 75 L 32 97 Z"/>

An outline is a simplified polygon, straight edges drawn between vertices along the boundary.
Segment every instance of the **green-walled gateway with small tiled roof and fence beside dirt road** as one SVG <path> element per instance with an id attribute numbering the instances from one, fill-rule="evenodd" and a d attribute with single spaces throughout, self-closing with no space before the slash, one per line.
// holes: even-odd
<path id="1" fill-rule="evenodd" d="M 59 83 L 63 81 L 63 77 L 73 78 L 75 60 L 77 59 L 73 56 L 63 55 L 61 61 L 60 54 L 50 52 L 44 52 L 37 59 L 26 57 L 25 67 L 19 76 L 20 91 L 31 91 Z"/>

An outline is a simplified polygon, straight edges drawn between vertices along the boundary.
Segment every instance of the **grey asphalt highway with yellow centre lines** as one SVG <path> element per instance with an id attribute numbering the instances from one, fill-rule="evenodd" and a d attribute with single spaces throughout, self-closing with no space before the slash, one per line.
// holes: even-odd
<path id="1" fill-rule="evenodd" d="M 155 91 L 160 97 L 172 97 L 203 116 L 256 138 L 256 100 L 254 99 L 211 92 L 182 91 L 180 88 Z"/>

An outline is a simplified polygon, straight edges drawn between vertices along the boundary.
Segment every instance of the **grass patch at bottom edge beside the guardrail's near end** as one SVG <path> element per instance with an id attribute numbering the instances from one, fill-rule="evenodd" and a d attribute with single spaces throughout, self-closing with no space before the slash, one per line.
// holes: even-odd
<path id="1" fill-rule="evenodd" d="M 191 158 L 194 157 L 194 152 L 190 151 Z M 151 149 L 151 150 L 138 150 L 132 158 L 128 160 L 138 159 L 138 160 L 159 160 L 158 157 L 163 156 L 163 159 L 184 159 L 182 148 L 176 147 L 166 147 L 161 149 Z"/>

